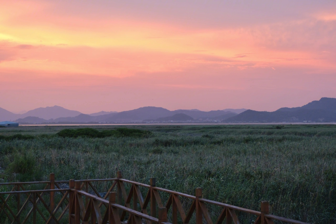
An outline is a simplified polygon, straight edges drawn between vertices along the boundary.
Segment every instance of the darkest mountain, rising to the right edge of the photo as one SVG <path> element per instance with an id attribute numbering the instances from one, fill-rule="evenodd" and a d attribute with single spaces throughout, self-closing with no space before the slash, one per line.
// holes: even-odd
<path id="1" fill-rule="evenodd" d="M 301 107 L 283 107 L 273 112 L 246 110 L 225 122 L 331 122 L 336 121 L 336 98 L 321 98 Z"/>

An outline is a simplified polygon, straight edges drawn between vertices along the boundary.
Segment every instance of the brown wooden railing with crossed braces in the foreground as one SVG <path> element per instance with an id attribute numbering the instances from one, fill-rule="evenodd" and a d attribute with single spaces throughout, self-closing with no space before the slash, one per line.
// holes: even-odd
<path id="1" fill-rule="evenodd" d="M 100 193 L 99 185 L 107 191 Z M 122 179 L 121 171 L 113 179 L 77 181 L 55 181 L 50 174 L 49 181 L 0 183 L 0 189 L 0 223 L 240 224 L 238 212 L 253 216 L 255 224 L 275 220 L 306 224 L 270 215 L 268 201 L 261 201 L 261 211 L 249 210 L 205 199 L 202 188 L 196 188 L 193 196 L 157 187 L 155 178 L 150 185 Z M 218 217 L 208 210 L 214 206 L 220 211 Z"/>

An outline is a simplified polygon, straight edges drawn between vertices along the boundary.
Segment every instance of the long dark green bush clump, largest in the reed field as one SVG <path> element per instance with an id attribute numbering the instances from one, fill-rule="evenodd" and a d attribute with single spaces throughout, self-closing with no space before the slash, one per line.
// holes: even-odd
<path id="1" fill-rule="evenodd" d="M 78 129 L 64 129 L 57 133 L 60 137 L 89 137 L 89 138 L 104 138 L 104 137 L 148 137 L 150 131 L 129 128 L 117 128 L 115 130 L 98 131 L 93 128 L 78 128 Z"/>

